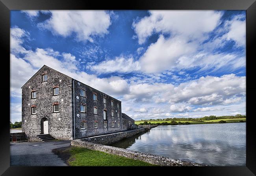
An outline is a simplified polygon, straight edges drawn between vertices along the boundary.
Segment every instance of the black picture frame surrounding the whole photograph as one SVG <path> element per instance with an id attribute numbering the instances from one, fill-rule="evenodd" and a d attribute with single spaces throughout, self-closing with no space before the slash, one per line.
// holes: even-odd
<path id="1" fill-rule="evenodd" d="M 123 10 L 246 10 L 246 166 L 237 167 L 137 167 L 134 171 L 132 167 L 119 167 L 121 172 L 115 171 L 117 168 L 96 169 L 95 167 L 85 169 L 83 167 L 24 167 L 10 166 L 10 143 L 7 109 L 9 108 L 10 97 L 10 11 L 11 10 L 87 10 L 87 9 L 123 9 Z M 62 175 L 78 174 L 78 171 L 85 174 L 105 174 L 106 169 L 112 174 L 147 174 L 147 171 L 163 171 L 174 174 L 174 172 L 189 175 L 204 176 L 253 176 L 256 174 L 256 128 L 254 127 L 253 105 L 256 100 L 254 85 L 254 60 L 255 60 L 255 31 L 256 31 L 256 2 L 255 0 L 129 0 L 129 1 L 89 1 L 89 0 L 0 0 L 0 30 L 1 30 L 1 49 L 2 49 L 2 128 L 0 132 L 0 174 L 9 175 Z M 4 56 L 3 56 L 4 54 Z M 4 63 L 3 63 L 4 62 Z M 9 69 L 8 69 L 9 68 Z M 9 77 L 8 77 L 9 75 Z M 8 115 L 9 114 L 9 115 Z M 91 173 L 90 173 L 91 171 Z M 100 173 L 101 172 L 101 173 Z M 162 173 L 163 174 L 163 173 Z"/>

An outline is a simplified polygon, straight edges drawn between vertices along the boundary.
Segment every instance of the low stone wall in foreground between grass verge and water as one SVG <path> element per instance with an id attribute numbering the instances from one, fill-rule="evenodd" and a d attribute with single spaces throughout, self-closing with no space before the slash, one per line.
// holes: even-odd
<path id="1" fill-rule="evenodd" d="M 106 152 L 109 154 L 124 156 L 126 158 L 132 158 L 135 160 L 145 161 L 150 164 L 161 165 L 161 166 L 202 166 L 201 164 L 198 164 L 198 163 L 175 160 L 172 158 L 167 158 L 167 157 L 158 156 L 154 154 L 146 154 L 142 152 L 121 149 L 118 147 L 86 142 L 82 140 L 72 140 L 71 145 L 78 146 L 78 147 L 85 147 L 87 149 Z"/>

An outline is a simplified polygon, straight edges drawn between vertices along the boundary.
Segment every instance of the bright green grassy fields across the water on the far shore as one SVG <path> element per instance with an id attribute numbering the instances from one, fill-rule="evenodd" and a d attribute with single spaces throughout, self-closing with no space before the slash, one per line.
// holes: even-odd
<path id="1" fill-rule="evenodd" d="M 240 120 L 246 121 L 246 118 L 234 118 L 234 119 L 217 119 L 217 120 L 204 120 L 204 122 L 197 122 L 197 121 L 179 121 L 176 120 L 176 122 L 189 122 L 191 124 L 207 124 L 207 123 L 219 123 L 219 121 L 224 120 L 227 123 L 235 123 L 235 122 L 239 122 Z M 135 124 L 139 125 L 139 123 L 143 123 L 144 121 L 135 121 Z M 150 123 L 162 123 L 162 122 L 167 122 L 170 123 L 171 121 L 148 121 Z"/>

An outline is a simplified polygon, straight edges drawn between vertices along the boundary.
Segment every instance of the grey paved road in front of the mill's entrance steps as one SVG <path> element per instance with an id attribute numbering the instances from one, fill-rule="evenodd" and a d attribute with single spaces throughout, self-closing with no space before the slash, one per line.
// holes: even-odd
<path id="1" fill-rule="evenodd" d="M 67 166 L 52 149 L 67 147 L 69 140 L 10 143 L 11 166 Z"/>

